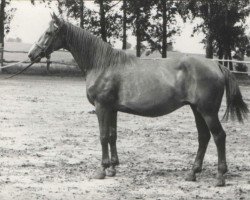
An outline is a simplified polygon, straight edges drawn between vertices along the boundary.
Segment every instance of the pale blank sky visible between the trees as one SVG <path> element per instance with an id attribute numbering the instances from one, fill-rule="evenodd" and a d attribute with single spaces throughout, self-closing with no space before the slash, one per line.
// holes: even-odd
<path id="1" fill-rule="evenodd" d="M 86 2 L 85 6 L 93 7 L 91 2 Z M 36 3 L 34 6 L 29 0 L 12 0 L 11 7 L 15 7 L 17 10 L 11 21 L 11 31 L 7 35 L 7 38 L 19 37 L 24 43 L 31 44 L 36 42 L 48 27 L 48 23 L 51 20 L 50 13 L 57 13 L 57 9 L 54 6 L 48 8 L 40 3 Z M 204 35 L 198 34 L 191 37 L 193 27 L 197 22 L 199 20 L 184 24 L 179 20 L 181 34 L 175 36 L 174 50 L 184 53 L 205 53 L 204 45 L 200 43 Z M 135 38 L 129 35 L 128 42 L 134 46 Z M 121 42 L 117 42 L 115 48 L 121 48 Z"/>

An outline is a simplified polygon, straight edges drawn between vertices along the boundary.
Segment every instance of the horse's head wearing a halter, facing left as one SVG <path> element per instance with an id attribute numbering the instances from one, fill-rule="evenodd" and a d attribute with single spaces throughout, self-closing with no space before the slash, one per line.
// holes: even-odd
<path id="1" fill-rule="evenodd" d="M 40 39 L 31 47 L 29 58 L 31 61 L 39 62 L 41 58 L 49 56 L 53 51 L 63 47 L 62 31 L 63 21 L 54 13 L 47 30 L 41 35 Z"/>

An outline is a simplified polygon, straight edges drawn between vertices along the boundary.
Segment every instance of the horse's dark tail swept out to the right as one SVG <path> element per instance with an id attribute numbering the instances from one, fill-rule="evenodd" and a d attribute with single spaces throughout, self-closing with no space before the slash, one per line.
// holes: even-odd
<path id="1" fill-rule="evenodd" d="M 227 108 L 223 116 L 224 120 L 228 120 L 229 116 L 232 120 L 237 117 L 239 122 L 247 118 L 249 113 L 247 104 L 243 101 L 239 85 L 235 76 L 226 67 L 220 65 L 221 71 L 225 77 L 226 85 L 226 102 Z"/>

